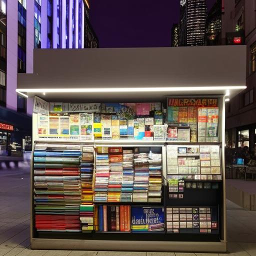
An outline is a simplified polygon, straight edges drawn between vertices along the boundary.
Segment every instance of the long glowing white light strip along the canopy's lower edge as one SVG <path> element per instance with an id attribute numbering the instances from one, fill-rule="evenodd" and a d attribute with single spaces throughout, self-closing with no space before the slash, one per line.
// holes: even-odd
<path id="1" fill-rule="evenodd" d="M 205 87 L 124 87 L 124 88 L 54 88 L 16 89 L 17 92 L 147 92 L 147 91 L 205 91 L 245 89 L 246 86 L 205 86 Z"/>

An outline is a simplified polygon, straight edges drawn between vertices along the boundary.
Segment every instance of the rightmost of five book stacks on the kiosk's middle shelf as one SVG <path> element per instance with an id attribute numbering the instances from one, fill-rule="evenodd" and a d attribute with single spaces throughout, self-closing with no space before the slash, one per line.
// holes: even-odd
<path id="1" fill-rule="evenodd" d="M 162 155 L 149 153 L 149 187 L 148 202 L 161 202 L 162 187 Z"/>

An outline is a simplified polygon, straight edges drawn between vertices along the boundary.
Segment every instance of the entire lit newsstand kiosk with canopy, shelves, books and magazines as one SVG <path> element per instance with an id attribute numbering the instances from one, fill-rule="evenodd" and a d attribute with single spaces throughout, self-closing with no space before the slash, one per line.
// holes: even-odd
<path id="1" fill-rule="evenodd" d="M 34 100 L 31 247 L 225 252 L 225 101 L 245 57 L 35 49 L 16 90 Z"/>

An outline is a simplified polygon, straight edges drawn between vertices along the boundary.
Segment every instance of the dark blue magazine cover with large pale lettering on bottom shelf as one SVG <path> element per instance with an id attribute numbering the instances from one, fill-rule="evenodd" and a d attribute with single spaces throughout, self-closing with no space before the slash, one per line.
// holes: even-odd
<path id="1" fill-rule="evenodd" d="M 132 232 L 163 232 L 164 207 L 131 206 Z"/>

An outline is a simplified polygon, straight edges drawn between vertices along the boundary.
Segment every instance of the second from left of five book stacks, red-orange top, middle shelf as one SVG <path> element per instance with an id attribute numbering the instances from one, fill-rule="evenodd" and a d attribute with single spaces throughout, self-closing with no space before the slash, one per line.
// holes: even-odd
<path id="1" fill-rule="evenodd" d="M 119 202 L 122 182 L 122 154 L 109 154 L 110 173 L 108 182 L 107 201 Z"/>

